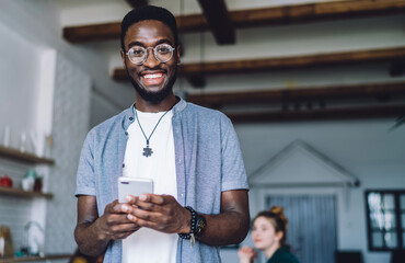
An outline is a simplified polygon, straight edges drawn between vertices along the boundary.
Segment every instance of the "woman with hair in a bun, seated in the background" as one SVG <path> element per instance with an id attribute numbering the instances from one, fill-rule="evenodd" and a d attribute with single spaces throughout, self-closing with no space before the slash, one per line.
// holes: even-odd
<path id="1" fill-rule="evenodd" d="M 284 208 L 279 206 L 261 211 L 253 219 L 252 239 L 255 249 L 265 254 L 267 263 L 299 263 L 286 243 L 287 224 Z M 238 256 L 240 263 L 253 263 L 257 254 L 253 248 L 243 247 Z"/>

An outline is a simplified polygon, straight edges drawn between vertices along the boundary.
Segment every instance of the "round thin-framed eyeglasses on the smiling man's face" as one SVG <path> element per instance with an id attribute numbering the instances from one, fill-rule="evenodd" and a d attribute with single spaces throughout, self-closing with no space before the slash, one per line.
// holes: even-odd
<path id="1" fill-rule="evenodd" d="M 169 44 L 160 44 L 155 47 L 144 48 L 142 46 L 132 46 L 127 52 L 129 60 L 135 65 L 142 65 L 148 59 L 148 49 L 153 49 L 154 58 L 159 62 L 167 62 L 173 57 L 174 47 Z"/>

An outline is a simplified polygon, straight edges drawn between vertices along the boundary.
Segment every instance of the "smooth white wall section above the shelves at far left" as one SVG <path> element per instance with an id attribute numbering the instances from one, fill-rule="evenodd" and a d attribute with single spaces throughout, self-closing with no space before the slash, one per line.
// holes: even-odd
<path id="1" fill-rule="evenodd" d="M 33 116 L 38 111 L 43 50 L 4 24 L 0 24 L 0 35 L 3 36 L 0 42 L 0 141 L 9 127 L 9 144 L 19 148 L 21 134 L 30 135 L 37 126 Z"/>

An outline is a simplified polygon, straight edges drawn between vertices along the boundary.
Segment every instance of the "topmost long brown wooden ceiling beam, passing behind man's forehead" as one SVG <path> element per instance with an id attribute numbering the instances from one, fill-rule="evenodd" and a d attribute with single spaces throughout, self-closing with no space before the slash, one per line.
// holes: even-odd
<path id="1" fill-rule="evenodd" d="M 357 0 L 232 11 L 229 12 L 229 18 L 235 28 L 246 28 L 371 15 L 402 14 L 404 11 L 405 0 Z M 198 33 L 210 28 L 209 23 L 201 14 L 177 16 L 176 21 L 178 32 L 182 33 Z M 63 37 L 70 43 L 118 39 L 119 24 L 120 22 L 68 26 L 63 28 Z"/>

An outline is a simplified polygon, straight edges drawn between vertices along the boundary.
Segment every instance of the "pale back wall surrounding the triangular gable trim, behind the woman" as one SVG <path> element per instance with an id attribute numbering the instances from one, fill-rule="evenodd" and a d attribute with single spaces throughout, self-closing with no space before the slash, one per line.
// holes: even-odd
<path id="1" fill-rule="evenodd" d="M 267 208 L 264 207 L 265 193 L 335 194 L 338 197 L 338 249 L 361 250 L 367 263 L 389 263 L 390 253 L 369 252 L 367 249 L 364 190 L 404 188 L 405 126 L 390 130 L 394 123 L 395 119 L 390 118 L 235 125 L 248 174 L 287 145 L 301 139 L 360 180 L 360 187 L 351 188 L 349 192 L 327 187 L 252 190 L 250 193 L 252 216 Z"/>

